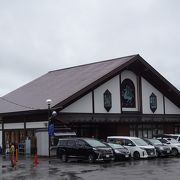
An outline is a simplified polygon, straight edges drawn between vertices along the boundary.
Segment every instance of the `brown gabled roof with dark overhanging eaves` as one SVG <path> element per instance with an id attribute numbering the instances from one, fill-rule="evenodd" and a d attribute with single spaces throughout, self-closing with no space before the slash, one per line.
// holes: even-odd
<path id="1" fill-rule="evenodd" d="M 180 93 L 139 55 L 101 61 L 48 72 L 0 98 L 0 113 L 64 108 L 124 69 L 143 76 L 174 104 L 180 107 Z"/>

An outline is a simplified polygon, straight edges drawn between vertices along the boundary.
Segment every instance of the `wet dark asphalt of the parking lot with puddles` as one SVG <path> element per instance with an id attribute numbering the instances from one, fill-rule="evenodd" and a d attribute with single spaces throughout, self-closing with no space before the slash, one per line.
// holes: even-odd
<path id="1" fill-rule="evenodd" d="M 0 180 L 178 180 L 180 158 L 158 158 L 139 161 L 88 164 L 71 161 L 62 163 L 56 158 L 21 157 L 15 168 L 9 158 L 0 157 Z"/>

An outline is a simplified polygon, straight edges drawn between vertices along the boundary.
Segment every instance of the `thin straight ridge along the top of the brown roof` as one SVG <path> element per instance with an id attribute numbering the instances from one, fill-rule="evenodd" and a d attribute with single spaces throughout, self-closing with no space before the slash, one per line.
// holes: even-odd
<path id="1" fill-rule="evenodd" d="M 138 55 L 139 54 L 134 54 L 134 55 L 123 56 L 123 57 L 118 57 L 118 58 L 113 58 L 113 59 L 107 59 L 107 60 L 103 60 L 103 61 L 92 62 L 92 63 L 88 63 L 88 64 L 80 64 L 80 65 L 71 66 L 71 67 L 67 67 L 67 68 L 52 70 L 52 71 L 49 71 L 48 73 L 53 73 L 53 72 L 56 72 L 56 71 L 63 71 L 63 70 L 67 70 L 67 69 L 72 69 L 72 68 L 77 68 L 77 67 L 82 67 L 82 66 L 88 66 L 88 65 L 98 64 L 98 63 L 103 63 L 103 62 L 108 62 L 108 61 L 114 61 L 114 60 L 128 58 L 128 57 L 135 57 L 135 56 L 138 56 Z"/>

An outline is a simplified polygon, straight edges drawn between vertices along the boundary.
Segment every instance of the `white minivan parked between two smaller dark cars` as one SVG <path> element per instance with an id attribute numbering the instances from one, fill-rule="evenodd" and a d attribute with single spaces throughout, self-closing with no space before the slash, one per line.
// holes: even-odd
<path id="1" fill-rule="evenodd" d="M 108 136 L 107 142 L 123 145 L 131 152 L 131 157 L 134 159 L 156 157 L 155 147 L 138 137 Z"/>

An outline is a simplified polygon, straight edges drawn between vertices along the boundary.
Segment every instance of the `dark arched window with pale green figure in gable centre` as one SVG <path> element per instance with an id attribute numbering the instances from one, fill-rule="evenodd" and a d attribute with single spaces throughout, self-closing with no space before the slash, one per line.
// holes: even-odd
<path id="1" fill-rule="evenodd" d="M 125 79 L 121 83 L 121 104 L 125 108 L 135 108 L 135 87 L 134 83 L 130 79 Z"/>

